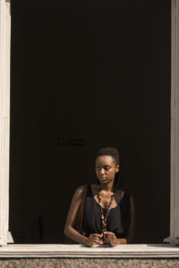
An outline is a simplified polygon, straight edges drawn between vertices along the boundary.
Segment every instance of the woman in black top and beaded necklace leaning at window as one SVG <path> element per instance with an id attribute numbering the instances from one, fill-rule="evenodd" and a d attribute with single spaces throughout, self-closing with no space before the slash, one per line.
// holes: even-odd
<path id="1" fill-rule="evenodd" d="M 88 247 L 131 243 L 134 237 L 133 197 L 118 188 L 120 161 L 114 147 L 104 147 L 96 157 L 98 183 L 77 188 L 72 197 L 64 234 Z M 84 191 L 83 234 L 73 228 Z"/>

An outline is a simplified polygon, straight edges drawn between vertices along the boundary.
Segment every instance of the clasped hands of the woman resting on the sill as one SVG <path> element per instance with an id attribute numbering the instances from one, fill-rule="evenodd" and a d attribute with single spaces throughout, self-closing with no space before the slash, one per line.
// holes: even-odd
<path id="1" fill-rule="evenodd" d="M 85 242 L 85 246 L 92 247 L 98 246 L 103 244 L 109 244 L 111 247 L 115 247 L 116 245 L 121 244 L 120 239 L 115 237 L 115 233 L 111 231 L 106 231 L 105 234 L 107 235 L 106 239 L 102 239 L 103 235 L 98 233 L 90 234 L 89 238 Z"/>

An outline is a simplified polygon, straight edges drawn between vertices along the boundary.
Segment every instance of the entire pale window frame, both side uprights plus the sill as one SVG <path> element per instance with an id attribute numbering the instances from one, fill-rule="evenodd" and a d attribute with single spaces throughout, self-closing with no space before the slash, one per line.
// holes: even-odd
<path id="1" fill-rule="evenodd" d="M 171 57 L 171 206 L 170 244 L 179 244 L 179 0 L 172 5 L 172 57 Z M 11 3 L 0 0 L 0 246 L 11 242 L 9 239 L 9 137 L 10 137 L 10 39 Z M 56 249 L 56 247 L 58 249 Z M 81 246 L 6 246 L 0 248 L 0 256 L 179 256 L 179 248 L 147 247 L 147 245 L 125 245 L 116 249 L 82 249 Z M 2 249 L 3 248 L 3 249 Z M 18 249 L 19 248 L 19 249 Z M 50 249 L 51 248 L 51 249 Z M 149 249 L 150 248 L 150 249 Z M 152 249 L 151 249 L 152 248 Z M 160 254 L 158 254 L 160 248 Z M 168 248 L 168 249 L 167 249 Z M 102 250 L 102 251 L 101 251 Z M 105 251 L 104 251 L 105 250 Z M 16 252 L 16 254 L 14 253 Z M 24 253 L 26 252 L 26 254 Z M 38 253 L 37 253 L 38 252 Z M 48 254 L 47 254 L 48 252 Z M 98 252 L 98 254 L 97 254 Z M 102 253 L 101 253 L 102 252 Z M 121 254 L 120 254 L 121 252 Z M 152 253 L 153 252 L 153 253 Z M 162 252 L 162 253 L 161 253 Z M 13 254 L 14 253 L 14 254 Z M 103 254 L 104 253 L 104 254 Z"/>

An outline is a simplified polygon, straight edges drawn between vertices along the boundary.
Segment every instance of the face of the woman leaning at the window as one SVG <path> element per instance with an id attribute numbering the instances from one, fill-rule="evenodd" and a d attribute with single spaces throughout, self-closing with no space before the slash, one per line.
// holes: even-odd
<path id="1" fill-rule="evenodd" d="M 96 173 L 100 183 L 109 183 L 115 180 L 115 173 L 119 171 L 119 165 L 112 156 L 98 156 L 96 160 Z"/>

